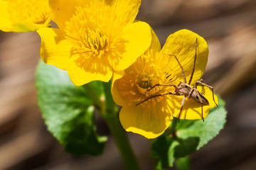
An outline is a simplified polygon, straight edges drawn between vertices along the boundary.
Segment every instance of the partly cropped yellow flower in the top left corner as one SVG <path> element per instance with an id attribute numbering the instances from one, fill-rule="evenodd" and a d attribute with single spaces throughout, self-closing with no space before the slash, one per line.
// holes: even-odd
<path id="1" fill-rule="evenodd" d="M 0 0 L 0 30 L 28 32 L 50 26 L 47 0 Z"/>

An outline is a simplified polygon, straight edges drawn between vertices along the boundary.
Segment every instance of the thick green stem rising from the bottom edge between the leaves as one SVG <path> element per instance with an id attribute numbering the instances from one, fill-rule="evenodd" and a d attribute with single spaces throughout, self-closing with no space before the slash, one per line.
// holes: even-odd
<path id="1" fill-rule="evenodd" d="M 119 151 L 122 155 L 124 166 L 126 166 L 127 170 L 139 170 L 139 165 L 137 163 L 137 159 L 134 156 L 134 153 L 132 152 L 129 139 L 119 122 L 118 108 L 114 104 L 112 95 L 110 93 L 111 82 L 103 83 L 103 86 L 106 96 L 107 113 L 101 115 L 103 118 L 105 118 L 105 121 L 110 128 L 112 136 L 114 137 L 114 141 L 116 142 L 117 147 L 119 148 Z"/>

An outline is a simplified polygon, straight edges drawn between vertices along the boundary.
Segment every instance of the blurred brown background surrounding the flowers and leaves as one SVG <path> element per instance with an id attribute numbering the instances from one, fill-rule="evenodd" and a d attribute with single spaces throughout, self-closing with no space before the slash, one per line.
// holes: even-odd
<path id="1" fill-rule="evenodd" d="M 227 102 L 220 135 L 191 155 L 191 169 L 256 169 L 256 1 L 142 0 L 139 20 L 163 45 L 186 28 L 203 36 L 210 55 L 203 79 Z M 101 157 L 73 157 L 46 130 L 36 105 L 36 33 L 0 32 L 0 169 L 124 169 L 112 137 Z M 100 128 L 109 134 L 104 123 Z M 129 133 L 143 170 L 154 169 L 150 140 Z"/>

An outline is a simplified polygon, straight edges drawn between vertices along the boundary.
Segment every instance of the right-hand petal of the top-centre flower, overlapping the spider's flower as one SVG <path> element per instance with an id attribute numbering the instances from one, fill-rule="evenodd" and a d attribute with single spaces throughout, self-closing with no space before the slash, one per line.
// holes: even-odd
<path id="1" fill-rule="evenodd" d="M 136 22 L 126 26 L 122 32 L 123 47 L 119 47 L 121 59 L 116 61 L 116 57 L 110 55 L 109 61 L 112 69 L 124 70 L 134 63 L 151 44 L 150 26 L 144 22 Z M 122 48 L 122 49 L 121 49 Z"/>

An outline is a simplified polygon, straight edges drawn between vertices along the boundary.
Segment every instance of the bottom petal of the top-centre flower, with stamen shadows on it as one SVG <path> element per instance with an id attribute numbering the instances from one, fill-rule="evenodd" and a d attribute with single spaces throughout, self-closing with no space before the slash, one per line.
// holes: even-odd
<path id="1" fill-rule="evenodd" d="M 73 84 L 81 86 L 95 80 L 110 81 L 112 69 L 107 62 L 97 57 L 85 60 L 85 56 L 76 54 L 69 61 L 68 74 Z"/>

